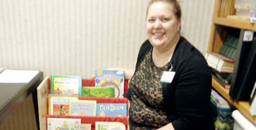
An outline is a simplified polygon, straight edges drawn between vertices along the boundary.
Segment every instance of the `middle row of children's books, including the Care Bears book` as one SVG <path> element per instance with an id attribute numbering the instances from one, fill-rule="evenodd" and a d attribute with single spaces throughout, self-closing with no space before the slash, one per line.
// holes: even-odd
<path id="1" fill-rule="evenodd" d="M 49 94 L 49 115 L 127 116 L 127 103 L 97 103 L 76 95 Z"/>

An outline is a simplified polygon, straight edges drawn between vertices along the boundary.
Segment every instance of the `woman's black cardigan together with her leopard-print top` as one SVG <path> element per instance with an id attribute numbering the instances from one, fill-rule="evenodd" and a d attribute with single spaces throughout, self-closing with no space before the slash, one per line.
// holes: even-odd
<path id="1" fill-rule="evenodd" d="M 171 122 L 175 130 L 214 130 L 212 74 L 204 55 L 181 36 L 171 62 L 156 68 L 152 48 L 148 40 L 142 43 L 135 75 L 124 94 L 131 104 L 130 129 L 156 129 Z M 162 71 L 171 68 L 170 64 L 175 72 L 172 83 L 160 82 Z"/>

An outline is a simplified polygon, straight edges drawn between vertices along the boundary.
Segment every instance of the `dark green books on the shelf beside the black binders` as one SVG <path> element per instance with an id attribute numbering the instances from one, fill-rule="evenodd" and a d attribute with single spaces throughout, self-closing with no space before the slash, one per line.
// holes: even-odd
<path id="1" fill-rule="evenodd" d="M 235 60 L 236 50 L 238 48 L 239 38 L 235 36 L 226 36 L 226 41 L 220 48 L 220 55 L 225 55 L 226 57 Z"/>

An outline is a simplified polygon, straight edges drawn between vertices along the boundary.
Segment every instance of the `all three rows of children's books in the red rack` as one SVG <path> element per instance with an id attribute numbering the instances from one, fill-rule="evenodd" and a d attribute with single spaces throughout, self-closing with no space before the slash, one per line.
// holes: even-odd
<path id="1" fill-rule="evenodd" d="M 82 86 L 82 76 L 51 75 L 49 115 L 57 116 L 47 118 L 48 129 L 90 130 L 94 126 L 93 129 L 126 130 L 128 122 L 103 119 L 104 121 L 89 120 L 91 123 L 82 123 L 83 117 L 128 117 L 128 101 L 111 101 L 111 98 L 122 100 L 124 72 L 96 70 L 95 74 L 94 87 Z M 110 102 L 101 98 L 109 99 Z"/>

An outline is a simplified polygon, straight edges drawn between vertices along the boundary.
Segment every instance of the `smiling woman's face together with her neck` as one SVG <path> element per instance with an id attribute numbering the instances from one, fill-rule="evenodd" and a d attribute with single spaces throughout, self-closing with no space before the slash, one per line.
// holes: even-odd
<path id="1" fill-rule="evenodd" d="M 154 47 L 153 62 L 157 67 L 163 67 L 171 59 L 180 40 L 181 16 L 175 16 L 172 4 L 152 1 L 148 7 L 146 27 L 148 41 Z"/>

